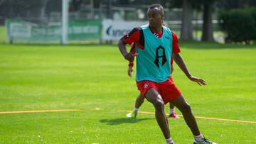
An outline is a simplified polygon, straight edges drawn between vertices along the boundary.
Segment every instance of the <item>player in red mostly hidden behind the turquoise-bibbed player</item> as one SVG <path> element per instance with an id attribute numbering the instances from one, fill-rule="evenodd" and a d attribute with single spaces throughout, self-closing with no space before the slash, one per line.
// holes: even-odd
<path id="1" fill-rule="evenodd" d="M 176 35 L 174 35 L 174 36 L 176 36 Z M 173 40 L 173 41 L 176 42 L 176 43 L 173 43 L 173 48 L 178 46 L 178 38 L 177 37 L 175 37 L 175 38 L 176 38 L 176 40 Z M 132 52 L 132 54 L 136 53 L 136 44 L 135 43 L 132 43 L 130 52 Z M 174 59 L 171 57 L 171 73 L 174 72 L 174 66 L 172 65 L 173 62 L 174 62 Z M 127 71 L 129 77 L 132 77 L 132 74 L 133 74 L 133 71 L 134 71 L 133 66 L 134 66 L 134 61 L 129 62 L 128 71 Z M 171 80 L 173 80 L 173 79 L 171 79 Z M 127 113 L 126 116 L 129 117 L 129 118 L 131 118 L 131 117 L 136 118 L 137 113 L 139 111 L 139 107 L 142 106 L 142 104 L 144 102 L 144 99 L 145 99 L 144 96 L 142 96 L 142 94 L 139 94 L 137 96 L 137 99 L 136 99 L 135 104 L 134 104 L 134 110 L 132 111 L 132 113 Z M 174 110 L 174 105 L 169 103 L 169 108 L 170 108 L 169 109 L 169 117 L 179 118 L 178 115 L 176 114 L 175 110 Z"/>

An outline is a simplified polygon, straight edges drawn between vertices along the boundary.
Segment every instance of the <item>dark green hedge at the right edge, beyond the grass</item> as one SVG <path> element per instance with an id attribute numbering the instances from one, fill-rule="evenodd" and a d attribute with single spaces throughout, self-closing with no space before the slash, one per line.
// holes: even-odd
<path id="1" fill-rule="evenodd" d="M 256 8 L 220 11 L 218 21 L 226 43 L 256 40 Z"/>

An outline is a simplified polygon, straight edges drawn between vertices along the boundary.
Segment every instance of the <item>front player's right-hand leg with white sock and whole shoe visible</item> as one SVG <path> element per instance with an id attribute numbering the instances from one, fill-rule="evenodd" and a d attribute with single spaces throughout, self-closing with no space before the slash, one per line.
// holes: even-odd
<path id="1" fill-rule="evenodd" d="M 186 124 L 191 129 L 191 132 L 194 135 L 194 144 L 214 144 L 213 142 L 210 142 L 206 138 L 203 138 L 203 135 L 199 131 L 198 124 L 196 123 L 196 118 L 193 116 L 193 113 L 191 111 L 191 106 L 186 102 L 185 98 L 182 95 L 178 96 L 178 98 L 171 101 L 171 104 L 174 104 L 174 106 L 176 106 L 176 108 L 178 108 L 181 111 L 183 118 L 186 121 Z"/>

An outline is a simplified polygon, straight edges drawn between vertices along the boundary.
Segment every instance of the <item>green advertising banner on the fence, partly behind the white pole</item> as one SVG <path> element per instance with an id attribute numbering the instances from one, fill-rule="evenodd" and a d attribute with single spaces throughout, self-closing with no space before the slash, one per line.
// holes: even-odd
<path id="1" fill-rule="evenodd" d="M 101 21 L 70 21 L 68 40 L 99 40 L 101 38 Z M 9 40 L 55 41 L 61 40 L 60 25 L 45 26 L 16 19 L 6 20 Z"/>

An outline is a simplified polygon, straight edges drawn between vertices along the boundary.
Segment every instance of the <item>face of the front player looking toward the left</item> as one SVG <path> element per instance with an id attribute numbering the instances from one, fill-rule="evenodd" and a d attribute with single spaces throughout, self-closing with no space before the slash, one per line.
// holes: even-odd
<path id="1" fill-rule="evenodd" d="M 147 16 L 149 20 L 149 26 L 153 28 L 161 26 L 164 17 L 159 9 L 149 9 Z"/>

